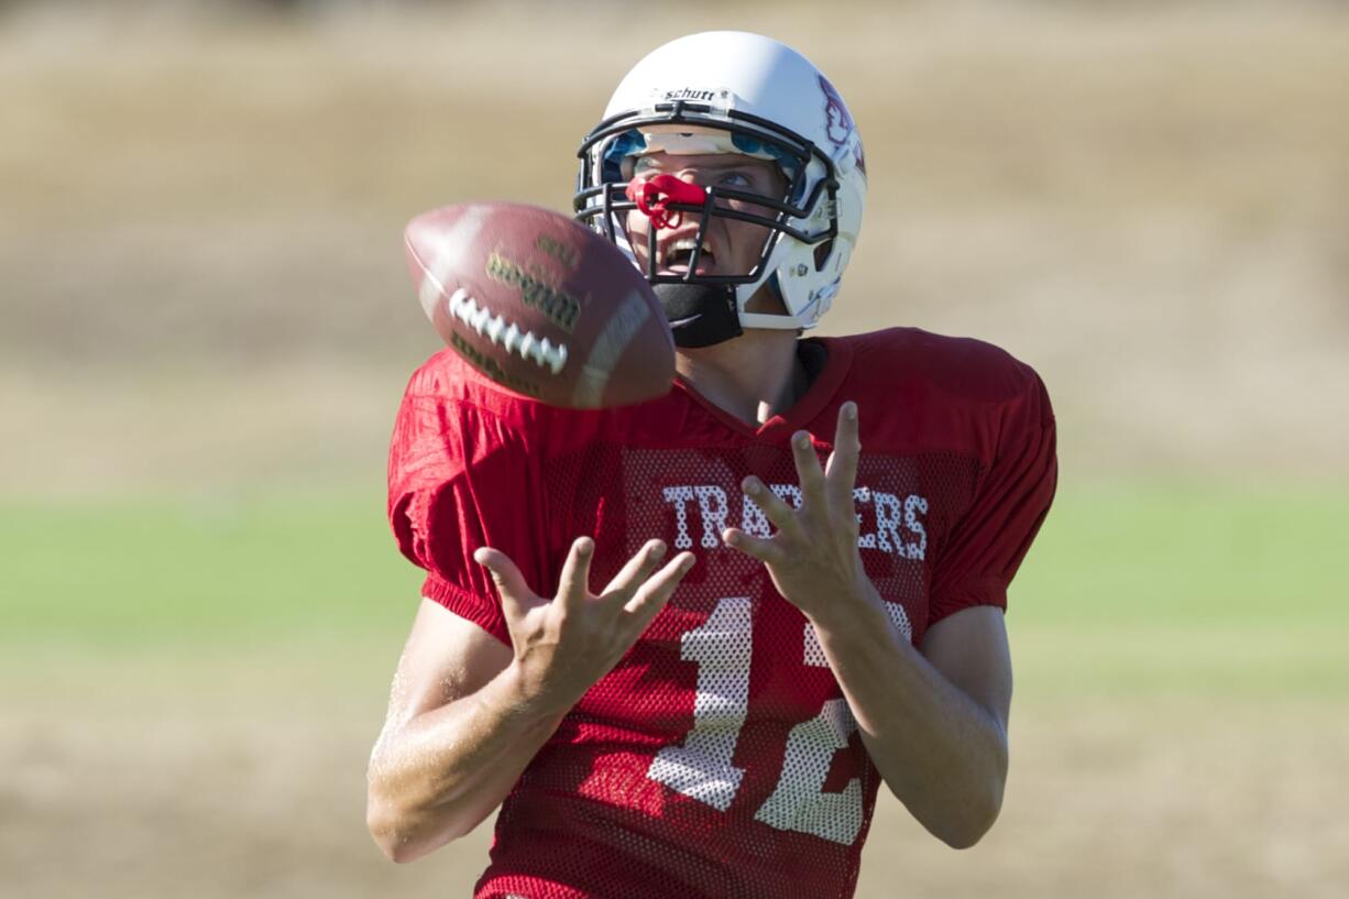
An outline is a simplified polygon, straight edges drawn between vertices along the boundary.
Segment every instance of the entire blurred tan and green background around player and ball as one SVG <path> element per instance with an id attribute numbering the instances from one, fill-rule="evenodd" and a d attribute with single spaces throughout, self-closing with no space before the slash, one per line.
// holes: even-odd
<path id="1" fill-rule="evenodd" d="M 646 50 L 797 46 L 866 138 L 826 332 L 1045 378 L 1004 818 L 882 799 L 858 895 L 1349 895 L 1349 9 L 0 3 L 0 871 L 16 896 L 468 895 L 364 757 L 417 605 L 405 221 L 569 204 Z"/>

